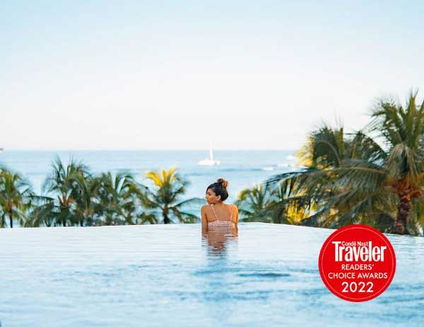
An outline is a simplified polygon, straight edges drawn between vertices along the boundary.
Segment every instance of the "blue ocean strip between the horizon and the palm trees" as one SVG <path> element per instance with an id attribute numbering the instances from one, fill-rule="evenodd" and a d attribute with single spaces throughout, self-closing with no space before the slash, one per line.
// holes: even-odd
<path id="1" fill-rule="evenodd" d="M 295 151 L 214 151 L 219 166 L 200 166 L 198 161 L 208 157 L 208 151 L 4 151 L 0 165 L 21 173 L 41 194 L 42 183 L 59 156 L 65 164 L 69 158 L 83 161 L 93 173 L 127 170 L 145 185 L 146 172 L 178 168 L 190 185 L 184 198 L 204 197 L 206 187 L 218 178 L 228 180 L 227 203 L 237 199 L 243 188 L 251 188 L 270 176 L 295 169 Z"/>

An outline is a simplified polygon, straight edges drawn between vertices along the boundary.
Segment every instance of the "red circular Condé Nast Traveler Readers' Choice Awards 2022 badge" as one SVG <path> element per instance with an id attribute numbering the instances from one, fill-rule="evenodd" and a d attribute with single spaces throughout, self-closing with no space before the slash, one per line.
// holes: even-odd
<path id="1" fill-rule="evenodd" d="M 389 287 L 396 270 L 393 246 L 384 234 L 366 225 L 337 229 L 319 253 L 319 274 L 341 299 L 363 302 Z"/>

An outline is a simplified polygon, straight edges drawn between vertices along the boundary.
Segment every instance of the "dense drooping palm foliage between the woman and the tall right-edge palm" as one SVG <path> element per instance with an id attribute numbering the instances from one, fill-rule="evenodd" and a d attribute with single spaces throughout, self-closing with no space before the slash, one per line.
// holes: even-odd
<path id="1" fill-rule="evenodd" d="M 268 186 L 292 185 L 285 188 L 291 199 L 289 207 L 296 204 L 300 213 L 310 213 L 298 224 L 338 228 L 362 223 L 387 229 L 394 197 L 375 185 L 379 176 L 369 183 L 358 180 L 384 162 L 382 149 L 362 132 L 346 134 L 343 127 L 322 127 L 313 132 L 307 149 L 303 159 L 309 166 L 267 181 Z"/>

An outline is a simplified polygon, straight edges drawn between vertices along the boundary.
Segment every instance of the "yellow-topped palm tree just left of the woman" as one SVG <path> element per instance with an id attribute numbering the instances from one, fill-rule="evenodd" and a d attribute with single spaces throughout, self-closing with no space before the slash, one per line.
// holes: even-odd
<path id="1" fill-rule="evenodd" d="M 160 214 L 163 224 L 174 222 L 172 218 L 182 223 L 199 221 L 198 216 L 184 208 L 204 204 L 204 200 L 196 197 L 188 200 L 179 199 L 184 195 L 189 182 L 179 176 L 176 168 L 171 168 L 169 171 L 150 171 L 146 177 L 153 182 L 154 189 L 145 188 L 141 201 L 147 208 L 154 210 L 156 215 Z M 155 219 L 154 222 L 158 221 L 159 219 Z"/>

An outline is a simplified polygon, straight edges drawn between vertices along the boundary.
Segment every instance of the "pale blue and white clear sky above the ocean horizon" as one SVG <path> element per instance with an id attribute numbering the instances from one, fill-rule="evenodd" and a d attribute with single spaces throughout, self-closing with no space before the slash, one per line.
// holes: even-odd
<path id="1" fill-rule="evenodd" d="M 0 0 L 6 150 L 298 149 L 424 95 L 422 1 Z"/>

